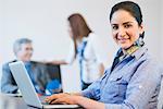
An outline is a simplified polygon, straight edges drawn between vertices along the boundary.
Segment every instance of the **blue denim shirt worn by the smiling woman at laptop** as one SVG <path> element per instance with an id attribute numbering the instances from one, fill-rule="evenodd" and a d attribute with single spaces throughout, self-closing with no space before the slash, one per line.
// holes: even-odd
<path id="1" fill-rule="evenodd" d="M 106 109 L 156 109 L 161 65 L 146 47 L 127 56 L 82 94 L 105 104 Z"/>

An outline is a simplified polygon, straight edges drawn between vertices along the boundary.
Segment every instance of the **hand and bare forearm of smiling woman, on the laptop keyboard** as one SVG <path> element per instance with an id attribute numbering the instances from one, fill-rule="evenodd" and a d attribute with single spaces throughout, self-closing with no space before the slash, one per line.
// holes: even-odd
<path id="1" fill-rule="evenodd" d="M 51 104 L 79 105 L 87 109 L 104 109 L 103 102 L 83 97 L 79 94 L 54 94 L 50 97 L 47 97 L 46 101 Z"/>

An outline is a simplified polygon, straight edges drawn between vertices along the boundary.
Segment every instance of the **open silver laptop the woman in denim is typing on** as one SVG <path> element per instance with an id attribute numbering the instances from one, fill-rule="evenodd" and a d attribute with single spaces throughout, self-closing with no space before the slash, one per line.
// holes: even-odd
<path id="1" fill-rule="evenodd" d="M 41 102 L 30 77 L 22 61 L 9 63 L 10 70 L 15 78 L 17 86 L 23 95 L 23 99 L 28 106 L 37 108 L 78 108 L 78 105 L 47 105 Z"/>

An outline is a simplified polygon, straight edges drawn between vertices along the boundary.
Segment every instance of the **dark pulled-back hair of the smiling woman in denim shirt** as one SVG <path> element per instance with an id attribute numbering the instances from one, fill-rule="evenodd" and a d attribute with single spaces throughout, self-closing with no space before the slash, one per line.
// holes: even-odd
<path id="1" fill-rule="evenodd" d="M 133 2 L 133 1 L 122 1 L 120 3 L 116 3 L 110 13 L 110 21 L 112 20 L 113 13 L 118 11 L 118 10 L 125 10 L 127 12 L 129 12 L 138 22 L 139 25 L 141 25 L 142 23 L 142 13 L 140 10 L 140 7 Z"/>

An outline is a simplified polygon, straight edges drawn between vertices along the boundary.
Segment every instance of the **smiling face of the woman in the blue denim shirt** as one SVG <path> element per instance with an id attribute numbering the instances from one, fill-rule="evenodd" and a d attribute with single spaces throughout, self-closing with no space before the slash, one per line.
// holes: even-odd
<path id="1" fill-rule="evenodd" d="M 142 34 L 142 25 L 138 25 L 136 19 L 125 10 L 117 10 L 111 19 L 112 34 L 115 43 L 122 48 L 129 48 Z"/>

